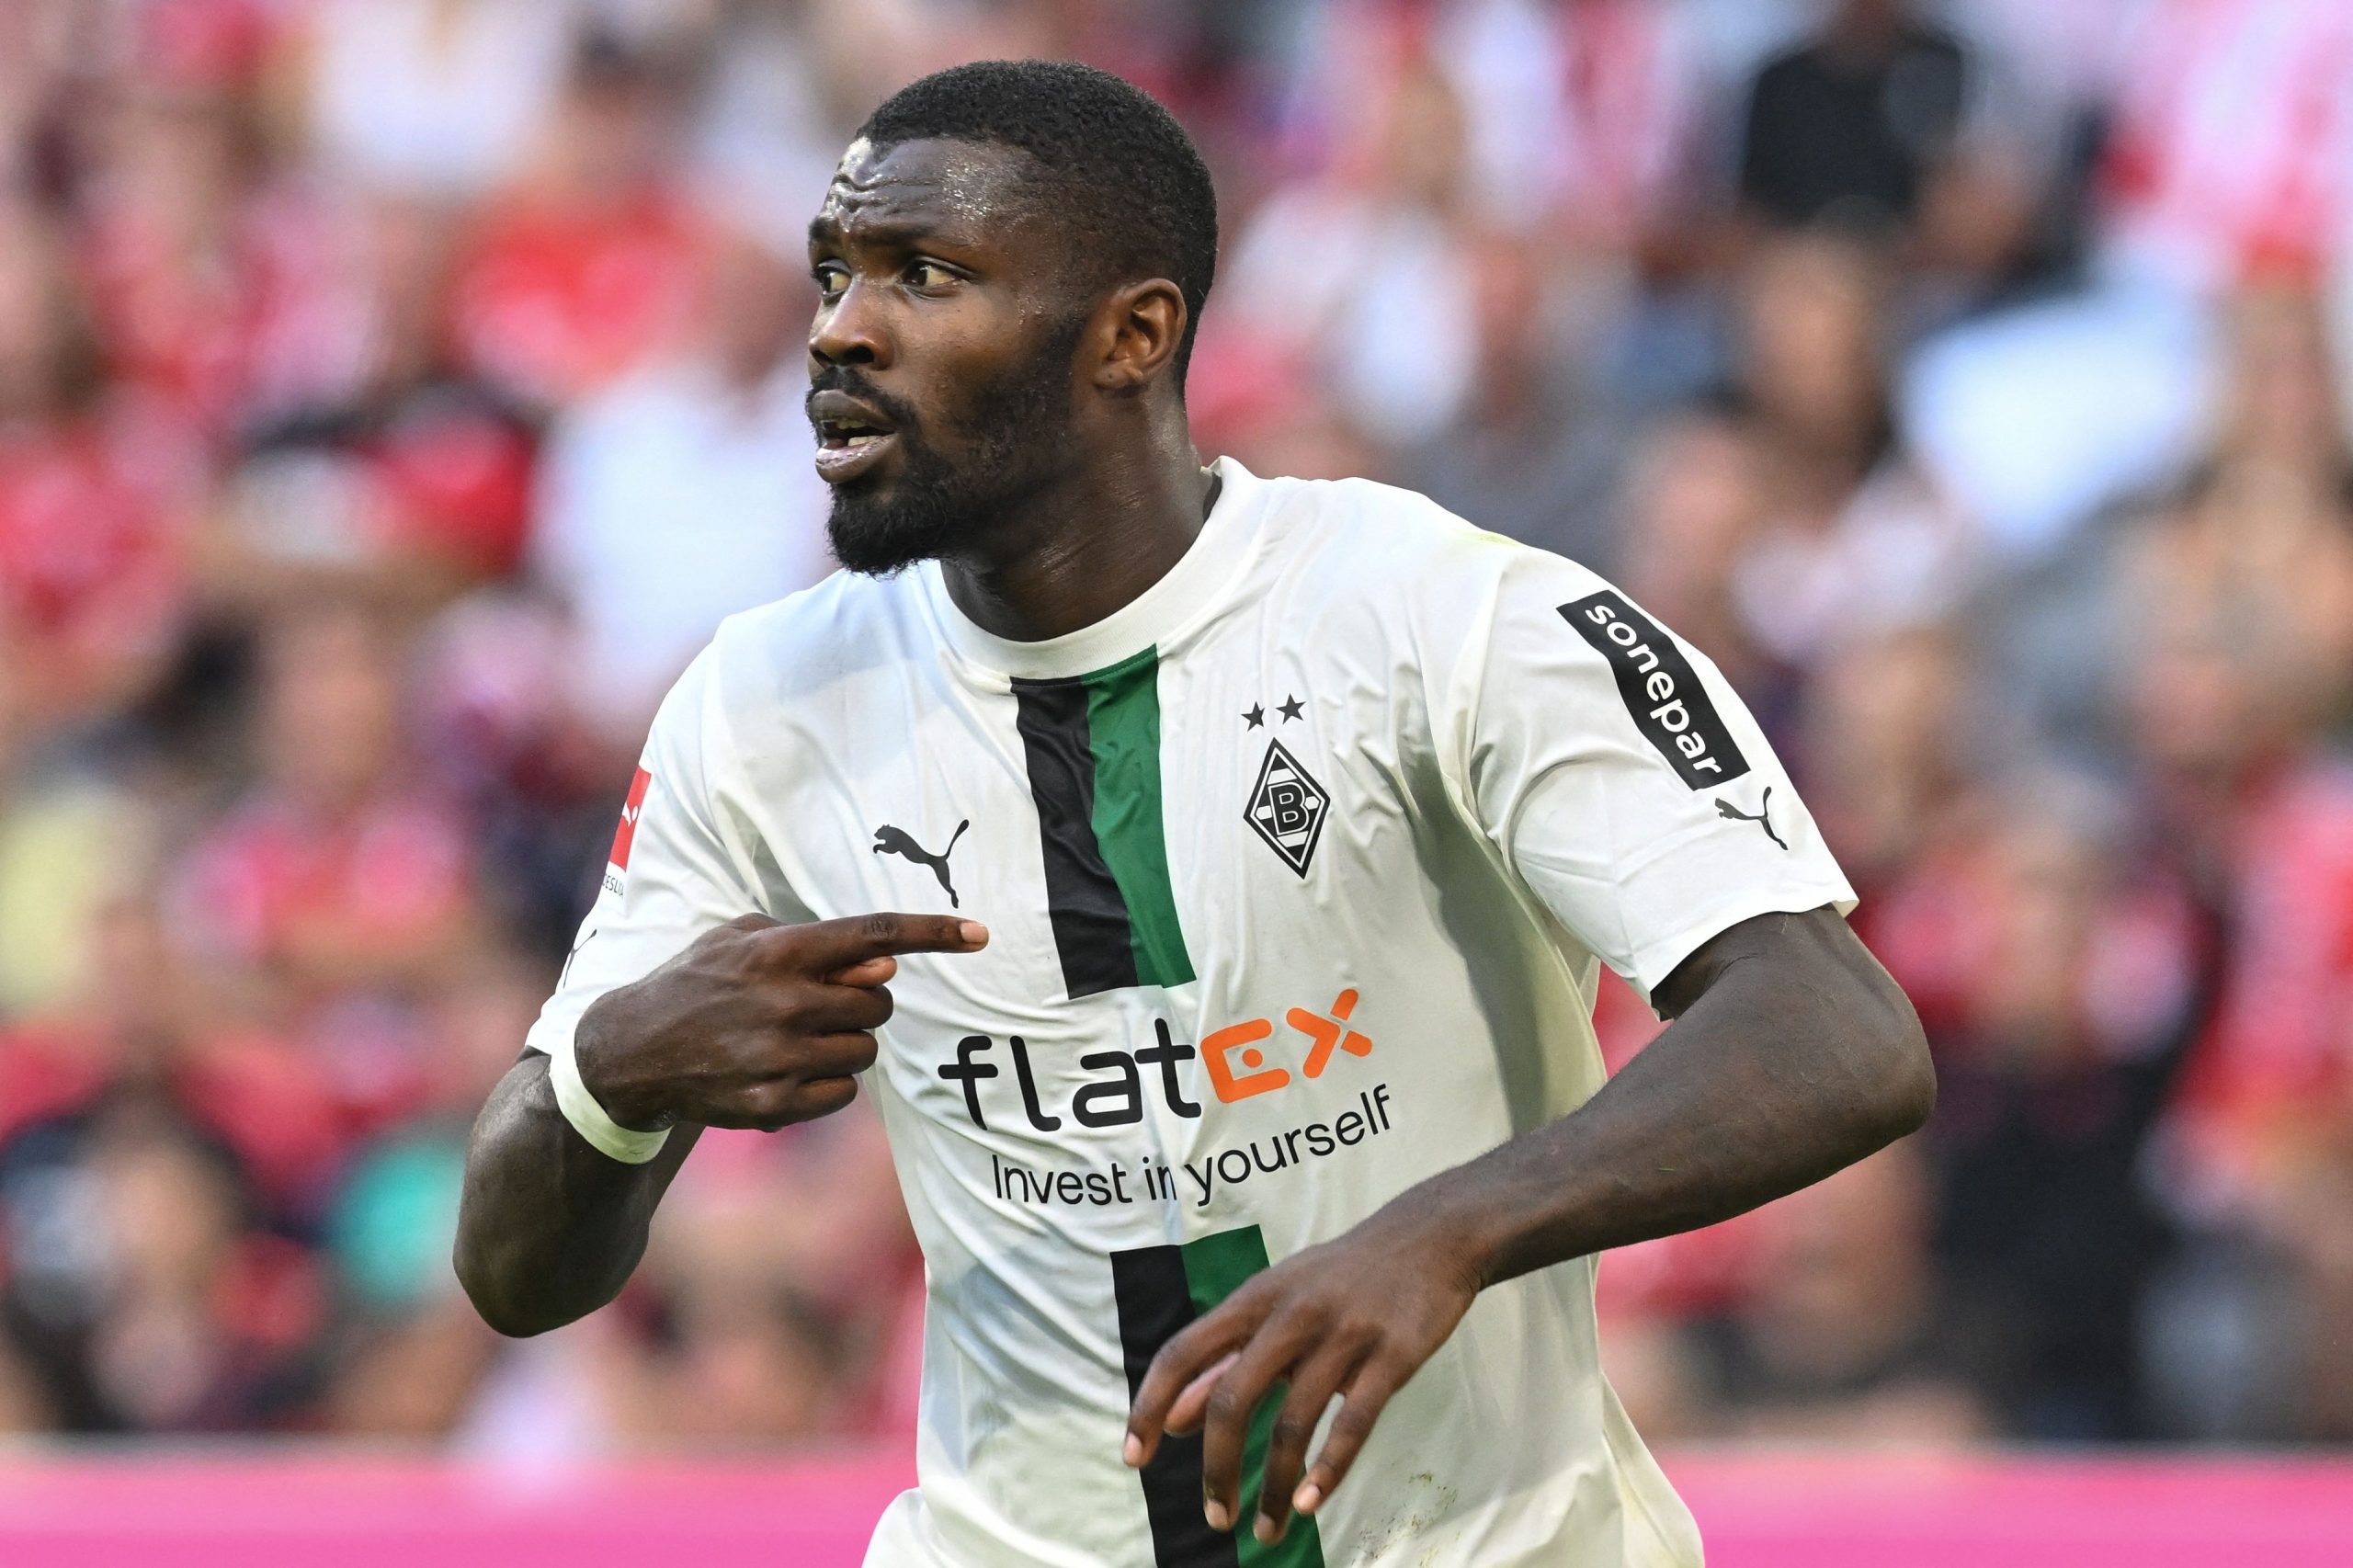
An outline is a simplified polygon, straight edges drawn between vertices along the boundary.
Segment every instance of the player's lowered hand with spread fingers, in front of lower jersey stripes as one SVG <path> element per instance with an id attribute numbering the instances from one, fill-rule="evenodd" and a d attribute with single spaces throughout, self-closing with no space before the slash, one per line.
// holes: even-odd
<path id="1" fill-rule="evenodd" d="M 1461 1227 L 1395 1208 L 1282 1260 L 1160 1347 L 1127 1415 L 1127 1462 L 1148 1464 L 1162 1431 L 1202 1427 L 1202 1511 L 1209 1528 L 1231 1530 L 1249 1417 L 1289 1382 L 1254 1526 L 1261 1542 L 1282 1540 L 1292 1509 L 1313 1514 L 1341 1483 L 1388 1396 L 1447 1342 L 1478 1283 Z M 1341 1413 L 1301 1481 L 1334 1394 Z"/>

